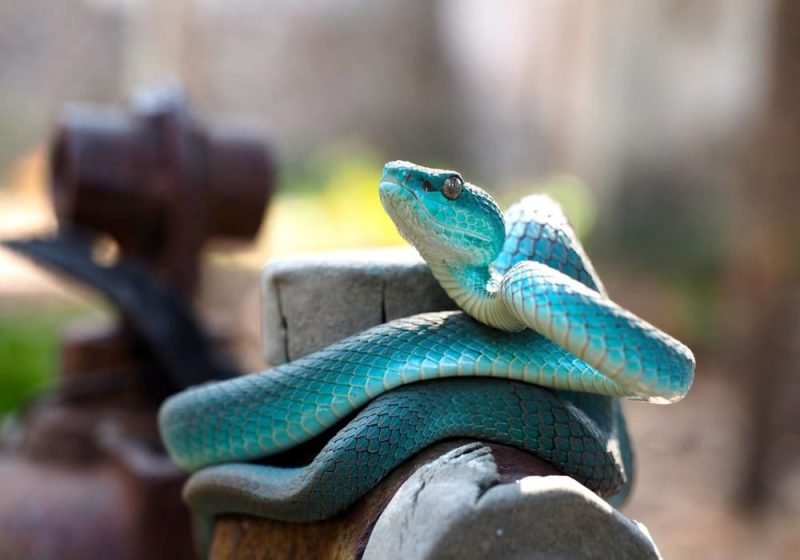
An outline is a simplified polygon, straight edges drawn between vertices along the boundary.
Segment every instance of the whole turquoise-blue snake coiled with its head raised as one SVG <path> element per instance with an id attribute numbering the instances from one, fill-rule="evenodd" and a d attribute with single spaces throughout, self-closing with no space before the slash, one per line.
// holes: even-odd
<path id="1" fill-rule="evenodd" d="M 624 497 L 632 454 L 617 397 L 683 398 L 691 351 L 608 298 L 550 199 L 527 197 L 504 216 L 458 173 L 399 161 L 379 193 L 463 311 L 396 320 L 171 397 L 161 434 L 194 472 L 193 512 L 206 525 L 222 513 L 326 519 L 448 437 L 516 446 Z M 263 464 L 331 432 L 307 464 Z"/>

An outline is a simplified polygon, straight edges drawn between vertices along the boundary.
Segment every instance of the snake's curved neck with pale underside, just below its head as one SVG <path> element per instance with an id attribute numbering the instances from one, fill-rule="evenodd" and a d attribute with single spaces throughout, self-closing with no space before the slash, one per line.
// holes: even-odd
<path id="1" fill-rule="evenodd" d="M 508 332 L 525 328 L 499 297 L 501 276 L 491 266 L 452 265 L 428 260 L 434 278 L 470 317 Z"/>

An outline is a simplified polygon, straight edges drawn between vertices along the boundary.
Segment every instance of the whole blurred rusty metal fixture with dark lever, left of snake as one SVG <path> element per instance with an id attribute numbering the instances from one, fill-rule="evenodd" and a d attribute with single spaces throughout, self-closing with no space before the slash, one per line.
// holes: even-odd
<path id="1" fill-rule="evenodd" d="M 159 90 L 128 112 L 67 111 L 51 168 L 58 235 L 4 244 L 98 290 L 120 320 L 68 327 L 58 390 L 0 454 L 0 558 L 193 558 L 185 475 L 156 412 L 238 373 L 190 302 L 204 243 L 258 230 L 272 164 L 261 141 L 213 132 Z M 111 259 L 96 254 L 102 236 Z"/>

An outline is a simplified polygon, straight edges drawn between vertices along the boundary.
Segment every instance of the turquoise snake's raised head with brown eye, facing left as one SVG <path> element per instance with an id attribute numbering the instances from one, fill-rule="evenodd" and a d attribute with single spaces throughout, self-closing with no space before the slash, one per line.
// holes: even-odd
<path id="1" fill-rule="evenodd" d="M 383 168 L 379 192 L 400 235 L 426 260 L 486 265 L 503 247 L 497 203 L 455 171 L 392 161 Z"/>

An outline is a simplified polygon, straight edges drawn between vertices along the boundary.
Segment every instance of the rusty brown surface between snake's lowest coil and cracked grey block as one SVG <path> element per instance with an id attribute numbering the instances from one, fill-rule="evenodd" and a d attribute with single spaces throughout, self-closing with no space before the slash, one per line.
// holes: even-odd
<path id="1" fill-rule="evenodd" d="M 286 523 L 244 515 L 221 516 L 215 525 L 211 560 L 357 560 L 386 505 L 422 465 L 466 443 L 451 440 L 428 447 L 395 469 L 343 514 L 317 523 Z M 560 474 L 538 457 L 495 443 L 501 482 L 529 475 Z"/>

